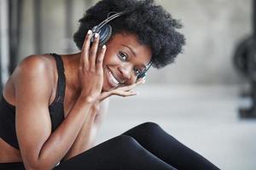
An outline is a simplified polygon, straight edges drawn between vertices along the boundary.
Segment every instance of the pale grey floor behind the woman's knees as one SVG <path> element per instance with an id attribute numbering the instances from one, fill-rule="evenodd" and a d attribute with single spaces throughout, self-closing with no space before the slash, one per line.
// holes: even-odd
<path id="1" fill-rule="evenodd" d="M 256 119 L 241 120 L 241 87 L 143 85 L 139 95 L 113 96 L 99 144 L 142 122 L 167 133 L 225 170 L 256 169 Z"/>

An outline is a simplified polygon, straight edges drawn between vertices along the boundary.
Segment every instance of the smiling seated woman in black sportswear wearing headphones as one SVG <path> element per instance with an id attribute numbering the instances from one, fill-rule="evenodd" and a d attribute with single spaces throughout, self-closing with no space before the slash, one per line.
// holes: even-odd
<path id="1" fill-rule="evenodd" d="M 136 95 L 149 66 L 172 63 L 184 38 L 153 0 L 102 0 L 79 22 L 80 53 L 28 56 L 9 77 L 0 169 L 218 169 L 153 122 L 92 147 L 108 97 Z"/>

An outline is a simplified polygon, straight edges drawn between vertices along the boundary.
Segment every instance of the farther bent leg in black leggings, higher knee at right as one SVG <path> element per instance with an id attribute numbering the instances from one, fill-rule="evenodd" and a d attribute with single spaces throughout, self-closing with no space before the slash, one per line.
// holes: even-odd
<path id="1" fill-rule="evenodd" d="M 177 141 L 154 122 L 145 122 L 123 134 L 136 139 L 139 144 L 154 156 L 158 156 L 161 160 L 177 169 L 219 169 L 205 157 Z"/>

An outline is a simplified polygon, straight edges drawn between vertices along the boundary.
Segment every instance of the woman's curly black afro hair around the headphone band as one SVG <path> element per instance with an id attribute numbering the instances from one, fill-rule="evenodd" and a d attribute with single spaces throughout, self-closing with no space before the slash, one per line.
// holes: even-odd
<path id="1" fill-rule="evenodd" d="M 183 51 L 185 39 L 176 31 L 182 25 L 164 8 L 155 5 L 154 0 L 102 0 L 96 3 L 79 20 L 79 30 L 73 36 L 79 49 L 86 32 L 108 18 L 110 12 L 125 12 L 108 23 L 113 28 L 113 35 L 122 32 L 136 34 L 139 42 L 152 49 L 154 68 L 172 63 Z"/>

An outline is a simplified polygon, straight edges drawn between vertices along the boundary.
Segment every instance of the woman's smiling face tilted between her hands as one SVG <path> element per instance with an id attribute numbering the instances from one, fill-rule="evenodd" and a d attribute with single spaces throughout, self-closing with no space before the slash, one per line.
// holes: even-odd
<path id="1" fill-rule="evenodd" d="M 103 91 L 131 85 L 151 59 L 151 49 L 138 42 L 134 34 L 117 33 L 107 42 L 103 61 Z"/>

